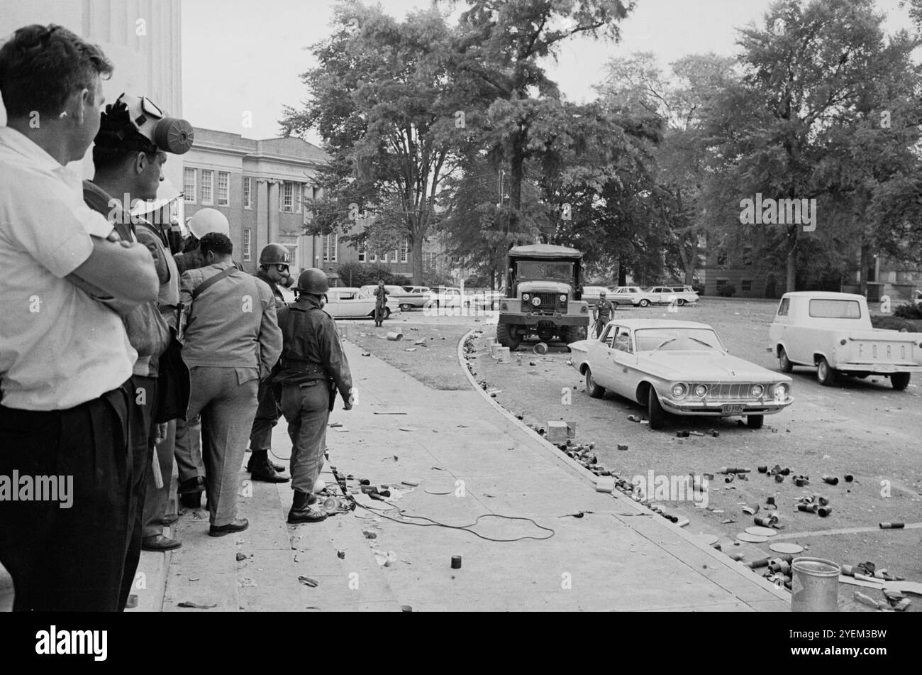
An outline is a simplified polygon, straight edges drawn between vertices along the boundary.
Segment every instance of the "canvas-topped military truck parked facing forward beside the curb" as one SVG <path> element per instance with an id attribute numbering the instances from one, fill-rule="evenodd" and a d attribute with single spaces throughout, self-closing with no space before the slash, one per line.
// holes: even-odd
<path id="1" fill-rule="evenodd" d="M 506 297 L 500 302 L 496 338 L 518 348 L 537 335 L 564 344 L 585 339 L 589 305 L 582 297 L 583 254 L 566 246 L 536 243 L 509 249 Z"/>

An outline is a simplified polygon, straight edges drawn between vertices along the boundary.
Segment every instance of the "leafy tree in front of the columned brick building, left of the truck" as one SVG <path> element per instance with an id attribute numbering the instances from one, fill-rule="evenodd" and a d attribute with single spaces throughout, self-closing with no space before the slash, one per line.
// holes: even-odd
<path id="1" fill-rule="evenodd" d="M 316 128 L 333 158 L 318 176 L 323 196 L 308 205 L 310 231 L 351 231 L 351 243 L 392 248 L 406 237 L 420 283 L 435 197 L 467 142 L 440 63 L 449 31 L 435 9 L 397 22 L 355 2 L 337 6 L 333 23 L 312 47 L 319 65 L 301 76 L 309 100 L 281 122 L 286 134 Z"/>

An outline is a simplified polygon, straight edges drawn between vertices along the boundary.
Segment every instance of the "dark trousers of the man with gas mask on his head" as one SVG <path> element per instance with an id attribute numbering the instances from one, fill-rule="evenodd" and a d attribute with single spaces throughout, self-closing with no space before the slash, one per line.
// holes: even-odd
<path id="1" fill-rule="evenodd" d="M 124 577 L 119 609 L 124 610 L 135 582 L 137 563 L 141 560 L 141 539 L 144 537 L 144 501 L 148 490 L 148 474 L 154 458 L 151 428 L 156 414 L 157 378 L 131 376 L 131 449 L 132 485 L 128 513 L 128 537 L 124 554 Z"/>

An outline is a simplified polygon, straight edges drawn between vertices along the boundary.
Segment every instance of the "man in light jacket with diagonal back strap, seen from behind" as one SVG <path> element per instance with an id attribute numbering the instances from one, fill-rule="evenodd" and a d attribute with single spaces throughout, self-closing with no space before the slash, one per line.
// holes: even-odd
<path id="1" fill-rule="evenodd" d="M 183 361 L 192 380 L 187 419 L 201 415 L 212 537 L 249 526 L 237 517 L 238 474 L 259 381 L 282 349 L 272 290 L 233 266 L 232 252 L 228 237 L 206 234 L 198 251 L 206 266 L 184 272 L 180 285 Z"/>

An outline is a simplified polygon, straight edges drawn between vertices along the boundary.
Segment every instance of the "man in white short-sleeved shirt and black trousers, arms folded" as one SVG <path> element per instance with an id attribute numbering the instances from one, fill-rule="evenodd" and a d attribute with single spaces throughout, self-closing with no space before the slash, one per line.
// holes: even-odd
<path id="1" fill-rule="evenodd" d="M 0 48 L 0 561 L 15 610 L 119 604 L 137 354 L 113 309 L 156 300 L 159 280 L 147 247 L 117 241 L 66 168 L 99 130 L 111 72 L 58 26 Z"/>

